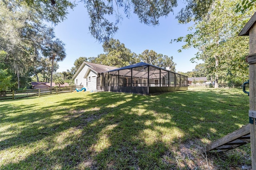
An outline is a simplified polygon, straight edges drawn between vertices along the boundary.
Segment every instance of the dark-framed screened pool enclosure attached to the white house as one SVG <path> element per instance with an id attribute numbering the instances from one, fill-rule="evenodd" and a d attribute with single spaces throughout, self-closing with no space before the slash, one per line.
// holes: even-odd
<path id="1" fill-rule="evenodd" d="M 100 89 L 152 94 L 188 89 L 188 77 L 147 63 L 136 63 L 102 73 Z"/>

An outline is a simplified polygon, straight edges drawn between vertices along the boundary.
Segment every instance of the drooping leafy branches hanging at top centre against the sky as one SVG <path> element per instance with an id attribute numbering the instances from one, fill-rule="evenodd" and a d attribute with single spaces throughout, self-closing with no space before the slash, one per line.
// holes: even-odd
<path id="1" fill-rule="evenodd" d="M 90 33 L 100 42 L 109 41 L 117 32 L 117 24 L 122 20 L 119 10 L 124 9 L 124 14 L 129 18 L 130 10 L 133 7 L 134 13 L 137 14 L 140 22 L 147 25 L 158 25 L 158 18 L 168 16 L 172 12 L 172 8 L 177 6 L 176 0 L 159 0 L 159 1 L 104 1 L 104 0 L 83 0 L 89 17 L 90 17 Z M 114 6 L 115 5 L 115 6 Z M 108 20 L 108 16 L 116 14 L 115 21 Z"/>

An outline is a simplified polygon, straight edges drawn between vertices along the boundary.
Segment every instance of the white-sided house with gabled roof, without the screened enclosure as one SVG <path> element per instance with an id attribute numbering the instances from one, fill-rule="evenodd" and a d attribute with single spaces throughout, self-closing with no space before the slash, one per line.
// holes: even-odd
<path id="1" fill-rule="evenodd" d="M 83 85 L 86 90 L 97 90 L 97 86 L 100 86 L 100 73 L 117 68 L 84 61 L 72 78 L 75 85 Z"/>

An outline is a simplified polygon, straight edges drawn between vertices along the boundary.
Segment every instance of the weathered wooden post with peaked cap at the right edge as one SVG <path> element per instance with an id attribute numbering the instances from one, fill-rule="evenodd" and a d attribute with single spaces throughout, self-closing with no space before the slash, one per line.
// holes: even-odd
<path id="1" fill-rule="evenodd" d="M 249 36 L 249 90 L 250 90 L 250 141 L 251 141 L 251 160 L 252 170 L 256 170 L 256 12 L 248 23 L 244 26 L 238 36 Z"/>

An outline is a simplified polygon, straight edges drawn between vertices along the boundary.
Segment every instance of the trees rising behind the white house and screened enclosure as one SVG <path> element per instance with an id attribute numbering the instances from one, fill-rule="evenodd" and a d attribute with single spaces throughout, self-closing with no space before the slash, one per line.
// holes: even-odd
<path id="1" fill-rule="evenodd" d="M 114 67 L 124 67 L 138 62 L 145 62 L 162 68 L 169 67 L 171 71 L 176 71 L 176 63 L 172 61 L 172 56 L 168 57 L 167 55 L 156 53 L 156 51 L 148 49 L 144 50 L 141 54 L 136 54 L 126 48 L 124 43 L 120 43 L 119 40 L 115 39 L 104 42 L 102 47 L 105 53 L 99 54 L 97 57 L 79 57 L 75 60 L 74 67 L 70 70 L 62 71 L 62 73 L 54 73 L 53 81 L 56 84 L 64 84 L 64 82 L 67 82 L 69 85 L 74 85 L 72 77 L 84 61 Z M 32 77 L 32 81 L 44 80 L 42 73 L 38 73 Z"/>

